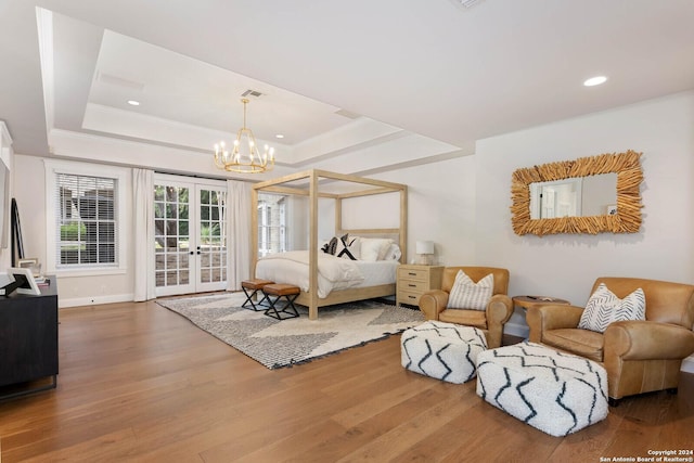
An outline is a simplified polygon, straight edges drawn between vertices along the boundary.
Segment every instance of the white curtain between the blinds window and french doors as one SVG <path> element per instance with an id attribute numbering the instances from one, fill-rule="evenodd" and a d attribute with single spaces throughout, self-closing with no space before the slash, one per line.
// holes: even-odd
<path id="1" fill-rule="evenodd" d="M 154 299 L 154 171 L 132 169 L 134 300 Z"/>

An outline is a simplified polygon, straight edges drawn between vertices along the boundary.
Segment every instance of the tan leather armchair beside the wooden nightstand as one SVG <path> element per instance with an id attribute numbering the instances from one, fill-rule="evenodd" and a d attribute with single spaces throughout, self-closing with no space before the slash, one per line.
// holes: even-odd
<path id="1" fill-rule="evenodd" d="M 448 296 L 453 287 L 458 271 L 464 271 L 475 283 L 489 273 L 494 275 L 494 288 L 487 310 L 447 309 Z M 447 267 L 444 269 L 441 288 L 424 293 L 420 297 L 420 310 L 427 320 L 440 320 L 474 326 L 487 337 L 487 346 L 501 346 L 503 325 L 513 313 L 513 303 L 509 293 L 509 270 L 493 267 Z"/>

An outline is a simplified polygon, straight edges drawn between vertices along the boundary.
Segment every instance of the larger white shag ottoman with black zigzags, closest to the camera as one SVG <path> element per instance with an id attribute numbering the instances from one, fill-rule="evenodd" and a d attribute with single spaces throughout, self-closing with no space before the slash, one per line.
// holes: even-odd
<path id="1" fill-rule="evenodd" d="M 607 372 L 582 357 L 524 342 L 477 357 L 477 395 L 552 436 L 607 416 Z"/>

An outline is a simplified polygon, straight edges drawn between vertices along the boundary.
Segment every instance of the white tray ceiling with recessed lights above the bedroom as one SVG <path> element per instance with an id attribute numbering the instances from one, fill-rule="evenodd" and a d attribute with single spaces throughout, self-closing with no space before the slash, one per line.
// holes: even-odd
<path id="1" fill-rule="evenodd" d="M 0 119 L 22 154 L 79 133 L 209 156 L 253 89 L 280 163 L 363 172 L 693 89 L 692 24 L 691 0 L 0 0 Z"/>

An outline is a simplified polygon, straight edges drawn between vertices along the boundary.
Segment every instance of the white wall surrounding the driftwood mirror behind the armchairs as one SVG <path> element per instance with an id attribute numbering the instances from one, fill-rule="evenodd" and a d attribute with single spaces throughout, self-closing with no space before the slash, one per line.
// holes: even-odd
<path id="1" fill-rule="evenodd" d="M 513 233 L 515 169 L 629 149 L 643 152 L 639 233 Z M 511 295 L 550 295 L 582 306 L 601 275 L 694 283 L 694 92 L 480 140 L 475 158 L 475 260 L 507 268 Z M 506 332 L 527 333 L 522 312 Z"/>

